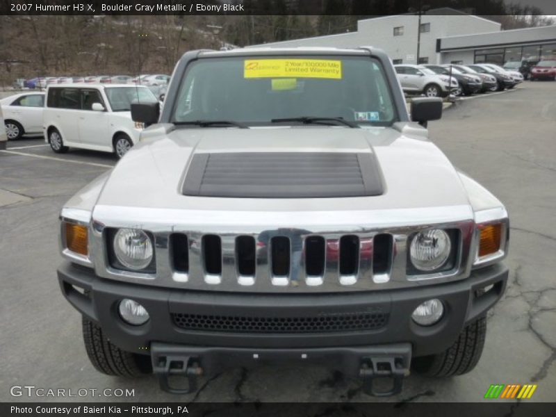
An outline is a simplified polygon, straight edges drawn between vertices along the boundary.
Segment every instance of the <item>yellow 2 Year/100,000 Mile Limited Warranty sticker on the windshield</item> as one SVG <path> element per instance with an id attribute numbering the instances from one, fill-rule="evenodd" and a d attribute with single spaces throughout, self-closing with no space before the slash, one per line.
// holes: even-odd
<path id="1" fill-rule="evenodd" d="M 342 61 L 329 59 L 246 59 L 244 78 L 297 78 L 341 79 Z"/>

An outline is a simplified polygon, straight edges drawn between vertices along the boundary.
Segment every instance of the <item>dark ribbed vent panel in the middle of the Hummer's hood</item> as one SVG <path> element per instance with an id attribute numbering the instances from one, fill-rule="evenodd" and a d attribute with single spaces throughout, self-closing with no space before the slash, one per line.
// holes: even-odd
<path id="1" fill-rule="evenodd" d="M 183 195 L 317 198 L 382 195 L 374 154 L 246 152 L 195 154 Z"/>

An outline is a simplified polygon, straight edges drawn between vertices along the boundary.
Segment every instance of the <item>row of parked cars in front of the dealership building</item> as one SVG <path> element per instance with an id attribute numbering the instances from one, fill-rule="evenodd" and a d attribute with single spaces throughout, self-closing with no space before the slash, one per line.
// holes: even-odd
<path id="1" fill-rule="evenodd" d="M 404 92 L 427 97 L 501 91 L 523 81 L 521 72 L 505 70 L 496 64 L 403 64 L 394 67 Z"/>

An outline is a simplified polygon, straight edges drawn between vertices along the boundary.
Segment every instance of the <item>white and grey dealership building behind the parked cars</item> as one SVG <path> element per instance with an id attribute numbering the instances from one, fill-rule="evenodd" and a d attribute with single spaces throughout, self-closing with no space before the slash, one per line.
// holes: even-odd
<path id="1" fill-rule="evenodd" d="M 357 31 L 284 42 L 269 47 L 360 47 L 384 49 L 395 64 L 498 63 L 556 59 L 556 26 L 502 31 L 500 23 L 451 8 L 359 20 Z M 417 57 L 417 39 L 420 47 Z M 263 45 L 253 45 L 263 46 Z"/>

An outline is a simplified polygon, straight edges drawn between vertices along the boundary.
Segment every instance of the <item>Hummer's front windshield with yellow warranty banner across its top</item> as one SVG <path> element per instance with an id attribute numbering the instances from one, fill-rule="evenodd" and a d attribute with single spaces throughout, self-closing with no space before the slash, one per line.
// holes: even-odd
<path id="1" fill-rule="evenodd" d="M 342 117 L 386 126 L 396 120 L 384 69 L 368 57 L 208 58 L 181 82 L 172 122 Z M 277 122 L 275 120 L 275 122 Z"/>

